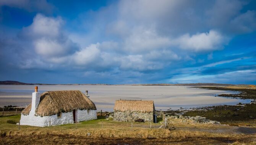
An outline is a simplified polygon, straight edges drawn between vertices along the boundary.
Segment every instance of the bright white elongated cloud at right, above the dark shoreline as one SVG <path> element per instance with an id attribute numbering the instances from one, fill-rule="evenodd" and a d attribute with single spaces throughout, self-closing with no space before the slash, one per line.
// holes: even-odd
<path id="1" fill-rule="evenodd" d="M 198 33 L 194 35 L 185 34 L 174 40 L 180 48 L 194 51 L 209 51 L 222 48 L 225 37 L 219 32 L 210 30 L 209 33 Z"/>

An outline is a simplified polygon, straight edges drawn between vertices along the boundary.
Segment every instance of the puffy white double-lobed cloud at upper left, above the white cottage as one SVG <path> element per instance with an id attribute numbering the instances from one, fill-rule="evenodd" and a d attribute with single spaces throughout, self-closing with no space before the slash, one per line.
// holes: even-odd
<path id="1" fill-rule="evenodd" d="M 63 33 L 63 24 L 61 17 L 53 18 L 37 14 L 33 23 L 24 27 L 19 37 L 31 40 L 35 52 L 47 59 L 70 55 L 78 50 L 78 46 Z"/>

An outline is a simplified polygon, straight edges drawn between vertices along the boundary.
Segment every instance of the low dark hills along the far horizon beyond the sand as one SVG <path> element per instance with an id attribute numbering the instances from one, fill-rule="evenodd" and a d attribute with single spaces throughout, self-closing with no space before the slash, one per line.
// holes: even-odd
<path id="1" fill-rule="evenodd" d="M 110 84 L 33 84 L 33 83 L 24 83 L 18 81 L 0 81 L 0 85 L 110 85 Z M 233 85 L 233 84 L 217 84 L 217 83 L 191 83 L 191 84 L 123 84 L 123 85 Z"/>

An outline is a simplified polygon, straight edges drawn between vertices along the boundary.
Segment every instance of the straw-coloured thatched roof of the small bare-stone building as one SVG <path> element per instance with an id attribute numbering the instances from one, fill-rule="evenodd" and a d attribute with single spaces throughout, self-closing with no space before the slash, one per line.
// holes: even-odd
<path id="1" fill-rule="evenodd" d="M 114 107 L 114 111 L 153 112 L 154 110 L 154 101 L 141 100 L 116 100 Z"/>

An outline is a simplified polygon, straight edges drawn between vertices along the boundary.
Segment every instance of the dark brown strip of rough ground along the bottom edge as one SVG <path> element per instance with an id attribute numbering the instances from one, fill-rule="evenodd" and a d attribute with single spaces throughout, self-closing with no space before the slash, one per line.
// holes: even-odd
<path id="1" fill-rule="evenodd" d="M 1 137 L 0 144 L 86 144 L 86 145 L 162 145 L 162 144 L 219 144 L 255 142 L 253 138 L 187 137 L 184 139 L 141 139 L 141 138 L 87 138 L 75 135 L 35 135 Z"/>

